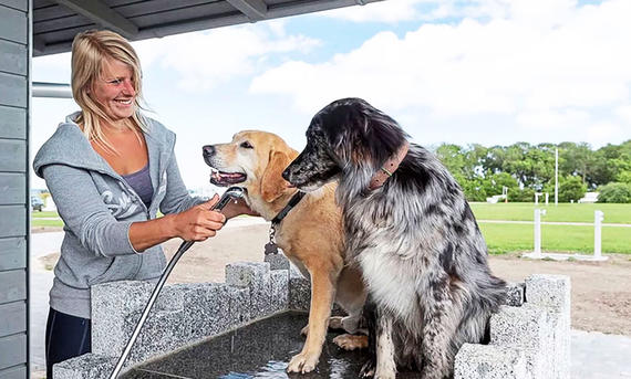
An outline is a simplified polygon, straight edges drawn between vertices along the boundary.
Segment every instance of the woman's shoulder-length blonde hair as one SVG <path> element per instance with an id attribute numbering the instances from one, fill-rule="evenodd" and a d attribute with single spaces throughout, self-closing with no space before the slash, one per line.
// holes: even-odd
<path id="1" fill-rule="evenodd" d="M 81 107 L 81 115 L 76 123 L 82 125 L 83 134 L 87 140 L 94 140 L 105 149 L 117 154 L 107 141 L 102 130 L 102 123 L 112 123 L 102 105 L 95 102 L 90 92 L 94 83 L 103 78 L 103 69 L 106 60 L 112 59 L 125 63 L 132 69 L 133 83 L 136 96 L 134 113 L 130 123 L 125 123 L 138 139 L 141 131 L 147 131 L 146 118 L 139 112 L 144 108 L 142 97 L 141 61 L 134 48 L 120 34 L 108 30 L 89 30 L 76 34 L 72 42 L 72 96 Z"/>

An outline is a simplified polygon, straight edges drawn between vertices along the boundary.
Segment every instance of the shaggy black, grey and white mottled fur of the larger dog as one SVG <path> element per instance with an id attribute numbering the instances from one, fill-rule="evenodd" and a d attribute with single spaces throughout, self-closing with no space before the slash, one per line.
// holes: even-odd
<path id="1" fill-rule="evenodd" d="M 303 190 L 339 180 L 346 255 L 369 289 L 373 355 L 363 375 L 394 378 L 397 367 L 425 379 L 453 375 L 464 343 L 484 339 L 506 296 L 490 274 L 487 249 L 463 191 L 423 147 L 410 144 L 399 169 L 369 183 L 407 135 L 359 98 L 331 103 L 311 120 L 307 146 L 283 177 Z"/>

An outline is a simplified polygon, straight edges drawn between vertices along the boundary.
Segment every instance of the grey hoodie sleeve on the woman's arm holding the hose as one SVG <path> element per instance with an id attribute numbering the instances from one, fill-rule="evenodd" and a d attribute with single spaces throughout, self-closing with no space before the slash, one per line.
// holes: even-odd
<path id="1" fill-rule="evenodd" d="M 101 256 L 137 253 L 128 236 L 133 221 L 112 215 L 86 170 L 48 165 L 42 173 L 59 214 L 83 246 Z"/>

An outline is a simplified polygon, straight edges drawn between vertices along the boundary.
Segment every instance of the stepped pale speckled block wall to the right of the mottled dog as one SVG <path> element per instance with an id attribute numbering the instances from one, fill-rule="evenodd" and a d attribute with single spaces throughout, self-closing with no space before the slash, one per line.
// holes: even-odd
<path id="1" fill-rule="evenodd" d="M 559 275 L 531 275 L 513 286 L 490 318 L 488 345 L 465 344 L 456 356 L 455 379 L 569 379 L 570 281 Z"/>

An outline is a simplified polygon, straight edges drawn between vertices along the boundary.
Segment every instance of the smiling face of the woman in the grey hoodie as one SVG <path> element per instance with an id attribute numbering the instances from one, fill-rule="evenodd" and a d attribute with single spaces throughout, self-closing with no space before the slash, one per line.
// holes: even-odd
<path id="1" fill-rule="evenodd" d="M 112 122 L 131 117 L 135 112 L 135 77 L 127 64 L 106 59 L 103 72 L 92 84 L 91 97 Z"/>

